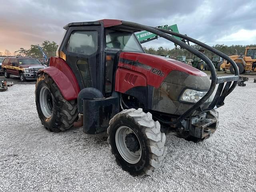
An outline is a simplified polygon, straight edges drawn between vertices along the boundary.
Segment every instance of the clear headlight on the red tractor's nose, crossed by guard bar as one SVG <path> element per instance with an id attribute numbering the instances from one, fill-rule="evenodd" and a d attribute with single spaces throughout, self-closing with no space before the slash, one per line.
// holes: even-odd
<path id="1" fill-rule="evenodd" d="M 198 102 L 205 94 L 207 91 L 197 91 L 193 89 L 185 89 L 183 94 L 180 97 L 180 101 L 184 102 L 190 102 L 190 103 L 196 103 Z M 212 94 L 206 102 L 212 102 L 214 97 L 214 94 Z"/>

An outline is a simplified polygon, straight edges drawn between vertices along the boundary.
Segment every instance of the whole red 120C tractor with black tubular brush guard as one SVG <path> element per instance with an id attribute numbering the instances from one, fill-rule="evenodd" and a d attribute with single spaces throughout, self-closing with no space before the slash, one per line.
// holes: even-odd
<path id="1" fill-rule="evenodd" d="M 224 105 L 239 78 L 228 56 L 188 36 L 121 20 L 75 22 L 64 29 L 57 57 L 51 57 L 49 67 L 38 72 L 36 83 L 36 108 L 46 129 L 65 131 L 83 114 L 83 131 L 107 131 L 118 164 L 140 176 L 152 174 L 163 164 L 164 131 L 172 129 L 196 141 L 215 132 L 219 122 L 214 109 Z M 204 60 L 211 80 L 192 66 L 146 54 L 134 35 L 142 30 Z M 235 75 L 217 77 L 204 54 L 172 35 L 228 60 Z"/>

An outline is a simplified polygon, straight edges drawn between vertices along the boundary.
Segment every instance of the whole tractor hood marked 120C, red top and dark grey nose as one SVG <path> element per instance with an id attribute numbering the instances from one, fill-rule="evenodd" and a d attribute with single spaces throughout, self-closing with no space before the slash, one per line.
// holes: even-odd
<path id="1" fill-rule="evenodd" d="M 210 88 L 210 79 L 204 72 L 171 58 L 151 54 L 121 52 L 118 66 L 144 74 L 144 79 L 146 79 L 146 84 L 149 87 L 148 91 L 144 92 L 148 92 L 152 96 L 152 98 L 149 98 L 148 107 L 158 112 L 182 115 L 194 105 L 194 103 L 181 101 L 181 96 L 186 89 L 207 92 Z M 124 73 L 122 76 L 127 75 Z M 123 78 L 125 81 L 126 77 Z M 137 81 L 140 82 L 140 80 Z M 129 78 L 127 81 L 129 81 Z M 135 79 L 133 81 L 135 82 Z M 146 84 L 136 83 L 134 83 L 134 86 L 146 86 Z M 122 88 L 123 86 L 120 87 Z M 132 86 L 129 89 L 136 90 Z M 130 95 L 134 94 L 130 90 L 120 89 L 118 91 Z M 143 95 L 142 92 L 141 94 Z M 138 99 L 140 100 L 140 98 Z M 143 99 L 140 101 L 142 102 Z M 203 107 L 206 108 L 207 105 L 209 105 L 208 102 Z"/>

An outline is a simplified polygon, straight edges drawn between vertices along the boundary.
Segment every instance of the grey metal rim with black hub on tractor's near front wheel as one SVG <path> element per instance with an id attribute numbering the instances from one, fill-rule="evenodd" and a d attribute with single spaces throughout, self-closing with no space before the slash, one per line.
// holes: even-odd
<path id="1" fill-rule="evenodd" d="M 141 144 L 138 136 L 127 126 L 116 130 L 116 147 L 126 162 L 136 164 L 141 158 Z M 133 142 L 132 142 L 133 141 Z"/>

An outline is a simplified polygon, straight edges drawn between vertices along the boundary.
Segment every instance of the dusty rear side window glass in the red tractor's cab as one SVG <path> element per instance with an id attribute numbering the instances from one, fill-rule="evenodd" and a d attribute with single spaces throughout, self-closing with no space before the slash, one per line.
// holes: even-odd
<path id="1" fill-rule="evenodd" d="M 74 31 L 66 45 L 68 52 L 92 55 L 98 50 L 97 31 Z"/>

